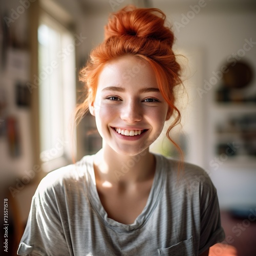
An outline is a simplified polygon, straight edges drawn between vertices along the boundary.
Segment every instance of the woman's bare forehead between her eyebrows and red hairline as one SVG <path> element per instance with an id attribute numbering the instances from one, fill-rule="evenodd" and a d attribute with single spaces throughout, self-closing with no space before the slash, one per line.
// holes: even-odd
<path id="1" fill-rule="evenodd" d="M 106 63 L 99 75 L 98 90 L 109 86 L 158 88 L 150 63 L 138 56 L 122 56 Z"/>

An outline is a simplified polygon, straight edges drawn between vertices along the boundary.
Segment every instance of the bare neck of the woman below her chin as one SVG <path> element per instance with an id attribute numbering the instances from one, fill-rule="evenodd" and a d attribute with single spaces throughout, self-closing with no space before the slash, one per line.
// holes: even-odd
<path id="1" fill-rule="evenodd" d="M 136 156 L 123 156 L 108 145 L 94 159 L 96 180 L 114 184 L 134 184 L 152 179 L 155 174 L 155 157 L 147 150 Z"/>

